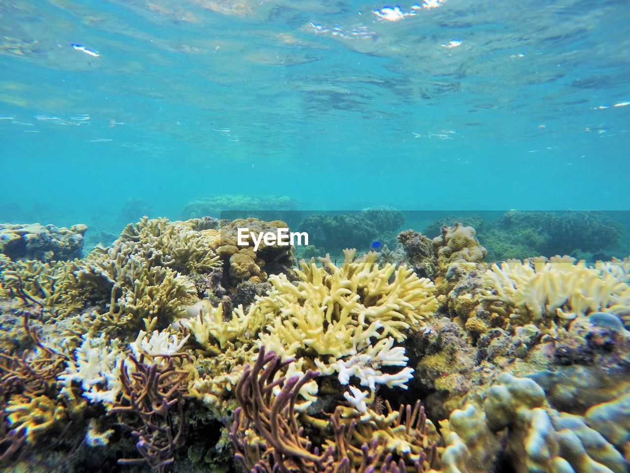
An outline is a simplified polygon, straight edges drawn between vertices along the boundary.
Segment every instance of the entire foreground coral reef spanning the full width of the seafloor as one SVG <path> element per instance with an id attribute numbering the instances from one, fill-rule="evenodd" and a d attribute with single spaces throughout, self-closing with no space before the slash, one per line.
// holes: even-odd
<path id="1" fill-rule="evenodd" d="M 3 226 L 3 471 L 628 471 L 630 260 L 493 264 L 455 223 L 297 262 L 243 226 L 286 225 L 145 218 L 84 257 L 84 226 Z"/>

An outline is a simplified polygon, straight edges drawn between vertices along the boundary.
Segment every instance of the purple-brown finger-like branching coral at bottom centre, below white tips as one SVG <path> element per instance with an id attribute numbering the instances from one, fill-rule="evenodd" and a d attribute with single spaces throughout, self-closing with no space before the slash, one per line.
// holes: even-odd
<path id="1" fill-rule="evenodd" d="M 236 449 L 236 458 L 245 469 L 252 472 L 340 472 L 367 473 L 375 469 L 382 472 L 406 472 L 408 467 L 401 458 L 398 463 L 392 460 L 392 452 L 398 450 L 411 454 L 411 447 L 401 447 L 394 436 L 375 435 L 362 447 L 354 447 L 353 433 L 356 423 L 342 421 L 341 409 L 336 409 L 330 423 L 335 434 L 335 441 L 321 449 L 312 448 L 311 441 L 304 436 L 304 429 L 299 426 L 295 401 L 300 388 L 316 378 L 319 373 L 307 371 L 302 377 L 290 378 L 277 375 L 292 360 L 282 361 L 275 353 L 266 353 L 261 348 L 253 366 L 247 366 L 239 380 L 236 396 L 241 407 L 235 412 L 230 437 Z M 278 378 L 274 381 L 275 378 Z M 282 386 L 278 394 L 275 387 Z M 403 412 L 406 421 L 403 424 Z M 422 443 L 427 433 L 425 418 L 419 406 L 408 407 L 394 415 L 398 427 L 408 436 L 416 436 Z M 254 431 L 256 433 L 254 433 Z M 394 445 L 390 445 L 390 442 Z M 411 467 L 416 472 L 427 472 L 435 461 L 435 447 L 430 447 L 428 455 L 423 448 L 416 449 L 411 458 Z M 433 470 L 431 470 L 433 471 Z"/>

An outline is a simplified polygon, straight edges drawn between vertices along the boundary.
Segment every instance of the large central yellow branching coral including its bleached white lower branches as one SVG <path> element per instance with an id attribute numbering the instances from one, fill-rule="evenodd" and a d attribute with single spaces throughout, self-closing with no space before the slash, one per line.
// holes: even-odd
<path id="1" fill-rule="evenodd" d="M 409 380 L 410 368 L 395 375 L 378 368 L 406 366 L 404 349 L 394 348 L 394 340 L 403 341 L 406 330 L 419 329 L 437 301 L 433 284 L 411 269 L 393 264 L 379 269 L 373 252 L 358 260 L 354 255 L 346 250 L 341 267 L 328 258 L 321 259 L 324 267 L 302 261 L 297 286 L 283 275 L 271 277 L 273 289 L 256 301 L 268 320 L 258 344 L 285 358 L 310 350 L 324 375 L 338 371 L 344 384 L 356 375 L 373 395 L 375 383 L 404 387 Z M 367 394 L 352 392 L 350 400 L 365 410 Z"/>

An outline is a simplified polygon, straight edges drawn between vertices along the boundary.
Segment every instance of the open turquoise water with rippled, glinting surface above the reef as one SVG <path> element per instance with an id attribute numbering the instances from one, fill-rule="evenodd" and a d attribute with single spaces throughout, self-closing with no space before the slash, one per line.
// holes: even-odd
<path id="1" fill-rule="evenodd" d="M 630 4 L 386 6 L 4 1 L 0 221 L 630 207 Z"/>

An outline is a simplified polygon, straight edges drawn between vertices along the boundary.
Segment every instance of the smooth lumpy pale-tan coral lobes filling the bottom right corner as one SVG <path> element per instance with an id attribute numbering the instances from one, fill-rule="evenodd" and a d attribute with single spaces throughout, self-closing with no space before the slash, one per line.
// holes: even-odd
<path id="1" fill-rule="evenodd" d="M 451 414 L 451 426 L 447 429 L 455 427 L 457 430 L 457 434 L 452 435 L 453 444 L 461 435 L 471 449 L 483 447 L 483 451 L 489 453 L 492 448 L 479 445 L 476 440 L 479 433 L 491 438 L 487 432 L 508 429 L 505 452 L 514 458 L 516 471 L 626 471 L 626 460 L 605 438 L 605 430 L 591 428 L 588 416 L 584 418 L 551 408 L 544 391 L 533 380 L 503 373 L 496 378 L 486 396 L 483 414 L 474 404 L 467 404 L 464 411 Z"/>

